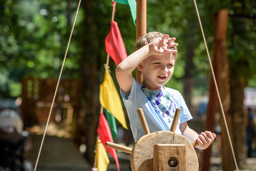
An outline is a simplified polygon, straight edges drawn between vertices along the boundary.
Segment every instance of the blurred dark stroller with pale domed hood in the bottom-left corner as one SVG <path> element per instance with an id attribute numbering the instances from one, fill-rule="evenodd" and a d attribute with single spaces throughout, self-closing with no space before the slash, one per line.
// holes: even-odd
<path id="1" fill-rule="evenodd" d="M 24 148 L 28 136 L 18 112 L 13 109 L 0 112 L 0 170 L 25 171 Z"/>

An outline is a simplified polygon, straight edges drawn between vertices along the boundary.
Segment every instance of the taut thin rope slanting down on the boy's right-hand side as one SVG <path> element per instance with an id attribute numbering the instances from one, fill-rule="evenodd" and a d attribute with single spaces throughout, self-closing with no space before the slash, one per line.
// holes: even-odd
<path id="1" fill-rule="evenodd" d="M 235 160 L 235 153 L 234 153 L 233 145 L 232 145 L 232 142 L 231 142 L 231 139 L 230 139 L 230 135 L 229 135 L 229 128 L 227 128 L 226 117 L 225 117 L 225 114 L 224 114 L 224 109 L 222 107 L 221 97 L 220 97 L 220 93 L 218 91 L 218 86 L 217 86 L 216 78 L 214 76 L 213 66 L 212 66 L 212 62 L 211 62 L 211 59 L 210 59 L 210 55 L 209 55 L 209 51 L 208 51 L 208 46 L 207 46 L 207 43 L 206 43 L 206 40 L 205 40 L 204 30 L 202 28 L 202 23 L 201 23 L 200 15 L 199 15 L 199 12 L 198 12 L 198 9 L 197 9 L 197 3 L 196 3 L 196 0 L 193 0 L 193 1 L 194 1 L 194 6 L 196 7 L 197 18 L 198 18 L 198 22 L 200 24 L 200 28 L 201 28 L 201 32 L 202 32 L 202 37 L 204 38 L 205 48 L 206 48 L 206 52 L 207 52 L 207 56 L 208 56 L 208 60 L 209 60 L 209 64 L 210 64 L 210 70 L 212 71 L 213 81 L 214 81 L 214 85 L 215 85 L 215 88 L 216 88 L 216 92 L 217 92 L 217 96 L 218 96 L 218 101 L 219 101 L 220 107 L 221 107 L 221 114 L 222 114 L 223 119 L 224 119 L 226 131 L 227 131 L 227 136 L 229 137 L 229 144 L 230 144 L 230 148 L 231 148 L 231 151 L 232 151 L 232 154 L 233 154 L 235 168 L 238 171 L 237 161 Z"/>

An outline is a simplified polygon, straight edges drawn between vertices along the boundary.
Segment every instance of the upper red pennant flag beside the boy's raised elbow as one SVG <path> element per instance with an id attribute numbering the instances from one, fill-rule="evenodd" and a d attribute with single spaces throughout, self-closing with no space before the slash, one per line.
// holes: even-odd
<path id="1" fill-rule="evenodd" d="M 117 22 L 111 22 L 110 32 L 105 39 L 105 48 L 107 54 L 116 63 L 116 66 L 127 57 L 121 32 L 117 26 Z"/>

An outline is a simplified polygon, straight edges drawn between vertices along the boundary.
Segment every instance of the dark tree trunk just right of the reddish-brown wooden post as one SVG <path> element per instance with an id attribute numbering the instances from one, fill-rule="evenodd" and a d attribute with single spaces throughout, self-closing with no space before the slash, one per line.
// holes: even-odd
<path id="1" fill-rule="evenodd" d="M 235 14 L 247 14 L 245 1 L 233 0 L 231 1 L 232 9 Z M 234 47 L 239 44 L 237 36 L 244 38 L 246 35 L 245 21 L 232 20 L 231 25 L 233 29 L 230 34 L 230 47 Z M 240 51 L 236 50 L 235 51 Z M 233 136 L 234 136 L 234 152 L 237 159 L 238 167 L 241 168 L 246 162 L 246 150 L 245 150 L 245 118 L 243 113 L 243 89 L 247 85 L 249 79 L 245 73 L 249 68 L 248 59 L 237 58 L 236 54 L 233 56 L 230 54 L 230 90 L 231 90 L 231 115 L 233 124 Z"/>

